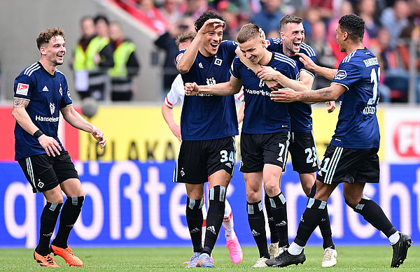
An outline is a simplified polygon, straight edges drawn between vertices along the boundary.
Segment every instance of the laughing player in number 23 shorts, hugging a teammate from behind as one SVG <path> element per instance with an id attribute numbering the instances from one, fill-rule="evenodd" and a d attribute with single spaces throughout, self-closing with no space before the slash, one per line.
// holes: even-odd
<path id="1" fill-rule="evenodd" d="M 281 18 L 279 31 L 281 40 L 279 38 L 267 39 L 267 49 L 274 52 L 281 52 L 284 55 L 295 60 L 299 69 L 300 81 L 288 78 L 279 71 L 275 71 L 270 66 L 251 66 L 250 68 L 257 73 L 257 76 L 266 80 L 267 85 L 277 90 L 282 87 L 290 87 L 297 91 L 311 90 L 312 83 L 314 83 L 314 73 L 304 67 L 302 62 L 299 60 L 299 55 L 295 53 L 301 53 L 309 57 L 311 60 L 316 60 L 316 54 L 314 50 L 303 43 L 304 41 L 304 28 L 302 24 L 302 18 L 295 15 L 286 15 Z M 245 64 L 248 64 L 245 62 Z M 328 112 L 332 112 L 335 109 L 335 101 L 326 102 L 328 106 Z M 288 106 L 290 113 L 290 145 L 289 152 L 292 158 L 293 170 L 299 173 L 300 182 L 304 193 L 309 196 L 311 193 L 315 194 L 315 187 L 311 191 L 311 188 L 315 184 L 316 171 L 319 170 L 318 152 L 316 152 L 316 144 L 314 140 L 314 133 L 312 131 L 312 117 L 311 117 L 311 106 L 307 103 L 293 102 Z M 313 196 L 313 195 L 311 195 Z M 276 228 L 272 220 L 272 215 L 267 208 L 269 206 L 269 198 L 265 197 L 265 207 L 267 210 L 269 229 L 270 229 L 270 245 L 269 252 L 270 257 L 275 257 L 283 250 L 286 250 L 288 243 L 287 241 L 279 241 L 279 236 L 276 234 Z M 325 221 L 319 225 L 321 234 L 323 236 L 323 259 L 321 262 L 322 267 L 335 266 L 337 264 L 337 251 L 335 251 L 335 245 L 332 243 L 332 234 L 330 227 L 330 218 L 325 218 Z"/>

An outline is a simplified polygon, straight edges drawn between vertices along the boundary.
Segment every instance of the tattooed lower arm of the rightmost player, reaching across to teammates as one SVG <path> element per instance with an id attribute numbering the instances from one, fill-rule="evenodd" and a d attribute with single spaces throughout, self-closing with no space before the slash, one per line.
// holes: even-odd
<path id="1" fill-rule="evenodd" d="M 278 91 L 271 92 L 270 99 L 276 102 L 283 103 L 290 103 L 294 101 L 313 103 L 332 100 L 335 101 L 345 91 L 346 87 L 338 84 L 331 84 L 330 87 L 308 92 L 295 92 L 295 90 L 292 90 L 290 88 L 284 88 Z"/>

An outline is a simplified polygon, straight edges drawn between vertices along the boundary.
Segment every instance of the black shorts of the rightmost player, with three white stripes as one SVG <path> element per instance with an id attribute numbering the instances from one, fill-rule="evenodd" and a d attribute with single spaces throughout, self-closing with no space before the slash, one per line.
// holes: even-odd
<path id="1" fill-rule="evenodd" d="M 355 149 L 328 145 L 316 179 L 325 184 L 379 182 L 379 148 Z"/>

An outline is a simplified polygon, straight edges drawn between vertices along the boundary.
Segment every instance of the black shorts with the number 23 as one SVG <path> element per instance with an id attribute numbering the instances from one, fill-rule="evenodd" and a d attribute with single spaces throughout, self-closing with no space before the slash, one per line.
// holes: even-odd
<path id="1" fill-rule="evenodd" d="M 292 158 L 293 171 L 315 173 L 319 170 L 318 152 L 312 131 L 292 132 L 288 150 Z"/>

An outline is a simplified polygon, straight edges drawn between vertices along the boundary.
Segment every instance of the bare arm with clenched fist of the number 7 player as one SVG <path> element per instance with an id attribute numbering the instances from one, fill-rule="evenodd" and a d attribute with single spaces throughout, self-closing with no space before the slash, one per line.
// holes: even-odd
<path id="1" fill-rule="evenodd" d="M 193 96 L 196 94 L 212 94 L 218 96 L 230 96 L 237 94 L 242 87 L 242 80 L 238 80 L 230 76 L 227 83 L 218 83 L 215 85 L 197 85 L 197 83 L 186 83 L 186 96 Z"/>

